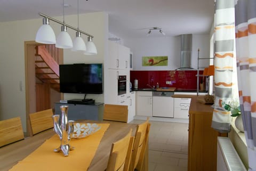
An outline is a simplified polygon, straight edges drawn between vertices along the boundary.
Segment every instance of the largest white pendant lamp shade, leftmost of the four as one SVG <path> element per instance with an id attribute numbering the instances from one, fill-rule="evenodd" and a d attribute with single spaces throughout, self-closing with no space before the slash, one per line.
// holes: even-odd
<path id="1" fill-rule="evenodd" d="M 43 18 L 43 25 L 36 33 L 36 42 L 43 44 L 55 44 L 56 37 L 52 27 L 49 25 L 49 19 Z"/>

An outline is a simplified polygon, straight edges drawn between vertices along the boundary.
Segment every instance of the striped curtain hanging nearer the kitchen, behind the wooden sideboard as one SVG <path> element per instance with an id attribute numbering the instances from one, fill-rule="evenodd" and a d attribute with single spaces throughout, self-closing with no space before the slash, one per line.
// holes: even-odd
<path id="1" fill-rule="evenodd" d="M 222 108 L 222 102 L 233 101 L 235 93 L 235 4 L 234 0 L 215 3 L 214 34 L 214 88 L 215 104 L 212 128 L 220 133 L 230 132 L 231 113 Z M 237 91 L 237 89 L 236 89 Z"/>

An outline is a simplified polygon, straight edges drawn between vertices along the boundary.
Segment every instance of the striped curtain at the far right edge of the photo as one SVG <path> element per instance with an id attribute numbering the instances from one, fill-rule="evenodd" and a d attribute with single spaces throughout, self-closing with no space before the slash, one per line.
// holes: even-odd
<path id="1" fill-rule="evenodd" d="M 256 0 L 235 4 L 239 102 L 249 170 L 256 170 Z"/>

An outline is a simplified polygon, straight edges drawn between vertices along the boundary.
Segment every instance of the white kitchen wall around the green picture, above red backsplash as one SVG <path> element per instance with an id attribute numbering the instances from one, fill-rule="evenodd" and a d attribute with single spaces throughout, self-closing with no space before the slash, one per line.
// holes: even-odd
<path id="1" fill-rule="evenodd" d="M 131 38 L 125 39 L 124 45 L 133 52 L 133 70 L 174 70 L 180 67 L 180 36 Z M 193 35 L 192 68 L 197 69 L 198 48 L 199 56 L 210 56 L 209 35 Z M 168 56 L 168 66 L 142 67 L 142 56 Z M 200 61 L 200 68 L 209 66 L 209 62 Z"/>

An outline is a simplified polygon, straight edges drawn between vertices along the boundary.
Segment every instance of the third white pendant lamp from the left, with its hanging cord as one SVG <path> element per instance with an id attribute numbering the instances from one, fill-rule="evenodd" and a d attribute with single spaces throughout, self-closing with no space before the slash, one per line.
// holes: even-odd
<path id="1" fill-rule="evenodd" d="M 77 30 L 79 30 L 79 1 L 77 0 Z M 81 32 L 76 32 L 76 37 L 73 39 L 73 48 L 71 51 L 86 51 L 86 46 Z"/>

